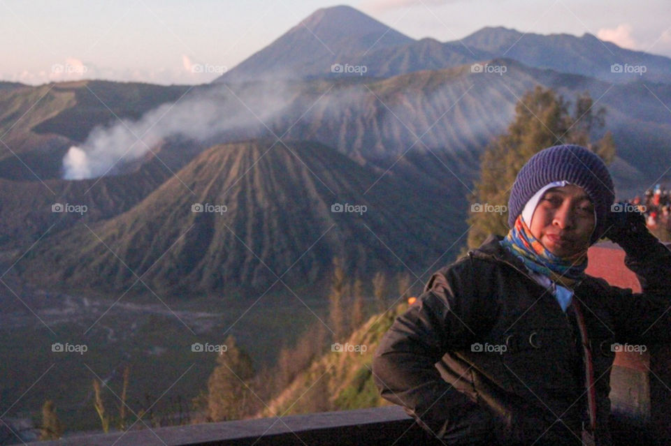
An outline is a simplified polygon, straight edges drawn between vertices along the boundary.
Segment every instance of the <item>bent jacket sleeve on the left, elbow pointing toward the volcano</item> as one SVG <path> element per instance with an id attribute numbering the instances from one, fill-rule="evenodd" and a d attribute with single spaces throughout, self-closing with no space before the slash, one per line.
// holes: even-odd
<path id="1" fill-rule="evenodd" d="M 485 442 L 493 422 L 489 410 L 456 391 L 435 368 L 447 350 L 473 342 L 487 314 L 476 313 L 472 302 L 476 279 L 469 265 L 465 259 L 433 274 L 417 302 L 384 335 L 373 357 L 382 397 L 403 406 L 447 444 Z"/>

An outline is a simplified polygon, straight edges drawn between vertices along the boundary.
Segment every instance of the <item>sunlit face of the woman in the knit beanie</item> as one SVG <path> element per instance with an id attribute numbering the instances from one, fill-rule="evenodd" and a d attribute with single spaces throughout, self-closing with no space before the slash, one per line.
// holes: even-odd
<path id="1" fill-rule="evenodd" d="M 531 234 L 558 257 L 568 257 L 589 247 L 594 229 L 594 205 L 575 184 L 549 188 L 531 218 Z"/>

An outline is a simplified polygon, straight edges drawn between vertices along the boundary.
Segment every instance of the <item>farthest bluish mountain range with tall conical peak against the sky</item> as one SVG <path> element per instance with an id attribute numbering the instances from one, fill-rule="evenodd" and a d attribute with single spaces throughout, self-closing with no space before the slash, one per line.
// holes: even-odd
<path id="1" fill-rule="evenodd" d="M 626 50 L 591 34 L 545 36 L 485 27 L 445 43 L 432 38 L 414 40 L 349 6 L 317 10 L 214 82 L 361 74 L 354 69 L 332 73 L 332 64 L 366 67 L 368 77 L 391 77 L 502 57 L 608 82 L 671 82 L 670 58 Z M 635 68 L 640 66 L 645 70 L 642 75 Z"/>

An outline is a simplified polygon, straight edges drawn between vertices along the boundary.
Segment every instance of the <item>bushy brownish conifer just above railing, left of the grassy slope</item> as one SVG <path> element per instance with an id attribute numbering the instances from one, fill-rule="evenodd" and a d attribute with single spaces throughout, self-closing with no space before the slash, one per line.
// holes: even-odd
<path id="1" fill-rule="evenodd" d="M 208 418 L 215 422 L 243 418 L 255 406 L 252 359 L 233 336 L 224 344 L 226 351 L 217 355 L 217 366 L 208 379 Z"/>

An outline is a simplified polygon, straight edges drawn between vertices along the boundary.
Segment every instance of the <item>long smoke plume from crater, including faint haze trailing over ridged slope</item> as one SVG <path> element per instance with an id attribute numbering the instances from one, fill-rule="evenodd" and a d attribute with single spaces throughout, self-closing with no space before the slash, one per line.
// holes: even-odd
<path id="1" fill-rule="evenodd" d="M 201 88 L 175 104 L 160 105 L 138 121 L 94 128 L 84 144 L 71 147 L 64 157 L 64 178 L 117 174 L 124 163 L 178 135 L 212 145 L 274 133 L 282 140 L 313 140 L 345 154 L 364 150 L 375 157 L 401 154 L 408 147 L 423 151 L 425 145 L 458 151 L 466 148 L 463 141 L 472 142 L 474 134 L 486 139 L 505 126 L 503 118 L 479 116 L 481 107 L 474 105 L 468 87 L 456 82 L 431 91 L 404 89 L 387 95 L 382 90 L 381 96 L 359 83 L 329 87 L 261 82 L 231 87 L 233 92 L 226 85 Z M 505 110 L 506 116 L 513 106 Z M 365 126 L 376 130 L 361 133 Z"/>

